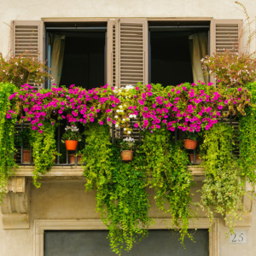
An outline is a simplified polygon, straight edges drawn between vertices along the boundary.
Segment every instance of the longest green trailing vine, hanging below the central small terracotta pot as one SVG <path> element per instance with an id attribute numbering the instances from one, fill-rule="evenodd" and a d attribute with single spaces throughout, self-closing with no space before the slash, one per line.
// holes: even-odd
<path id="1" fill-rule="evenodd" d="M 120 255 L 148 234 L 152 222 L 143 155 L 137 150 L 131 163 L 123 162 L 119 147 L 109 143 L 108 125 L 92 125 L 85 134 L 85 190 L 96 189 L 96 210 L 108 227 L 113 252 Z"/>

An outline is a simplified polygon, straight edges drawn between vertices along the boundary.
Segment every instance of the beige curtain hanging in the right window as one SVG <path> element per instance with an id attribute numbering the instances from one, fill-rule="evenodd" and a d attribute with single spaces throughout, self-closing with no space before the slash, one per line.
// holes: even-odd
<path id="1" fill-rule="evenodd" d="M 190 35 L 189 46 L 194 83 L 201 80 L 201 82 L 207 84 L 208 76 L 203 74 L 201 59 L 208 55 L 208 34 L 201 32 Z"/>

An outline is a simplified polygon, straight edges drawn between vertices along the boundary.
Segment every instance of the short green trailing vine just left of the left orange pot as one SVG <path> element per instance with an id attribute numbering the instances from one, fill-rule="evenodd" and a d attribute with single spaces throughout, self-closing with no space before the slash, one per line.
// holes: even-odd
<path id="1" fill-rule="evenodd" d="M 50 121 L 44 121 L 42 126 L 43 133 L 32 131 L 32 156 L 35 164 L 33 171 L 33 183 L 39 188 L 39 173 L 45 174 L 49 172 L 51 166 L 54 165 L 56 151 L 55 143 L 55 125 L 51 125 Z"/>

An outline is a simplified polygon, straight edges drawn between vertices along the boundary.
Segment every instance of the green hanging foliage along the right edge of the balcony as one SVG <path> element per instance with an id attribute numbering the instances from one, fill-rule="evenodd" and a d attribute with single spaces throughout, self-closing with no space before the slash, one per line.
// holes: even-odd
<path id="1" fill-rule="evenodd" d="M 247 177 L 250 183 L 256 183 L 256 82 L 246 87 L 252 93 L 253 105 L 247 106 L 246 115 L 239 120 L 241 176 Z"/>

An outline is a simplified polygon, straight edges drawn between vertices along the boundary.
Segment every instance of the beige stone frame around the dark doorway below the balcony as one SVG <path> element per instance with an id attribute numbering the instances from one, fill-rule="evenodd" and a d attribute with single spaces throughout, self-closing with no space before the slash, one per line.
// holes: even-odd
<path id="1" fill-rule="evenodd" d="M 171 218 L 156 218 L 151 230 L 166 230 Z M 209 256 L 219 256 L 218 218 L 189 220 L 189 229 L 209 229 Z M 36 219 L 33 227 L 33 256 L 44 256 L 44 230 L 107 230 L 101 219 Z"/>

